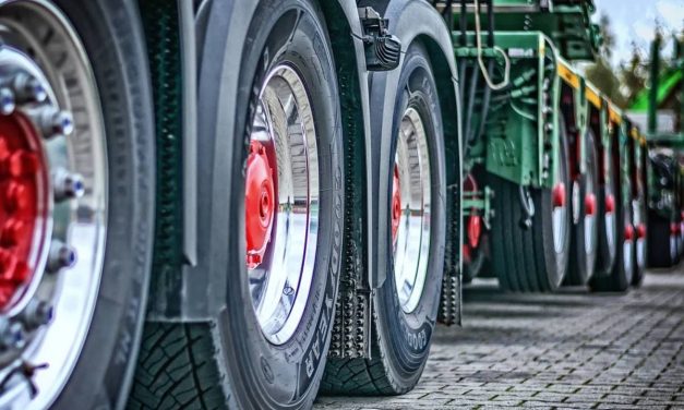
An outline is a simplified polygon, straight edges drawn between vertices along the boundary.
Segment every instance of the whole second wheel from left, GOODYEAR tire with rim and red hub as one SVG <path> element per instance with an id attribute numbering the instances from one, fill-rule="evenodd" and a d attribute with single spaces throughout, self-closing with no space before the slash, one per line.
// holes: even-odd
<path id="1" fill-rule="evenodd" d="M 245 38 L 212 39 L 244 52 L 216 62 L 220 81 L 237 75 L 237 104 L 207 126 L 218 142 L 201 142 L 226 148 L 206 158 L 218 188 L 200 204 L 214 250 L 200 264 L 225 300 L 206 322 L 148 323 L 131 409 L 311 408 L 325 367 L 344 216 L 331 43 L 311 0 L 260 1 L 244 23 Z M 220 106 L 199 104 L 200 121 Z"/>

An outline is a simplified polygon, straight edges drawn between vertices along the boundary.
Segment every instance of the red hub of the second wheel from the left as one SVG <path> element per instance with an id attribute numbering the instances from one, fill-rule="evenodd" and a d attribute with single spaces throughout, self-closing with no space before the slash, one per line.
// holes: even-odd
<path id="1" fill-rule="evenodd" d="M 273 158 L 273 156 L 272 156 Z M 244 184 L 244 236 L 247 239 L 247 266 L 257 267 L 271 241 L 275 216 L 274 169 L 266 146 L 257 141 L 250 143 Z"/>

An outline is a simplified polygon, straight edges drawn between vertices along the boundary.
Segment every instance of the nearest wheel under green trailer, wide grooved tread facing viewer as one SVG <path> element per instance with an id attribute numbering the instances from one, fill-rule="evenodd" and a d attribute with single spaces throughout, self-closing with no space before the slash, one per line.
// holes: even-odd
<path id="1" fill-rule="evenodd" d="M 559 182 L 554 189 L 531 190 L 535 215 L 528 229 L 520 186 L 492 177 L 492 269 L 502 289 L 514 292 L 550 292 L 559 289 L 567 272 L 572 219 L 571 177 L 565 125 L 560 121 Z"/>

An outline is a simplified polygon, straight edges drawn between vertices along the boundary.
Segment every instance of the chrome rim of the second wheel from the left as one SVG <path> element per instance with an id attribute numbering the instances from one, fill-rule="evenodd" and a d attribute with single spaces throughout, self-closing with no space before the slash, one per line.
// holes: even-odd
<path id="1" fill-rule="evenodd" d="M 272 215 L 265 222 L 267 234 L 263 243 L 256 245 L 249 243 L 250 227 L 253 226 L 250 217 L 261 208 L 249 207 L 249 186 L 245 192 L 250 294 L 262 333 L 272 343 L 281 345 L 297 330 L 309 300 L 320 202 L 319 154 L 311 99 L 302 79 L 289 65 L 278 65 L 266 76 L 250 140 L 250 155 L 254 155 L 255 144 L 263 148 L 261 155 L 268 164 L 273 180 Z M 248 184 L 250 172 L 251 168 L 248 169 Z M 263 201 L 255 203 L 264 204 Z"/>

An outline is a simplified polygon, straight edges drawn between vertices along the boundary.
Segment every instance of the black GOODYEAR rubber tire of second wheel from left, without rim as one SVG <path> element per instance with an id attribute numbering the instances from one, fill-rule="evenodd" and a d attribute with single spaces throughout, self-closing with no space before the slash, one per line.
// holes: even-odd
<path id="1" fill-rule="evenodd" d="M 214 93 L 224 84 L 201 86 L 199 102 L 200 129 L 212 136 L 201 140 L 200 150 L 207 155 L 203 176 L 208 185 L 218 183 L 211 195 L 201 197 L 200 207 L 211 209 L 199 221 L 203 236 L 211 239 L 211 250 L 202 253 L 206 261 L 200 264 L 208 266 L 211 284 L 227 280 L 225 305 L 212 312 L 207 322 L 147 325 L 129 408 L 300 409 L 312 406 L 319 389 L 341 261 L 344 159 L 335 64 L 314 1 L 263 0 L 255 7 L 247 38 L 207 37 L 217 51 L 229 41 L 244 44 L 239 58 L 228 57 L 216 71 L 203 68 L 218 73 L 219 81 L 238 75 L 235 112 L 216 112 L 221 97 Z M 320 202 L 309 298 L 293 335 L 275 345 L 265 337 L 252 309 L 242 232 L 251 124 L 267 74 L 281 64 L 297 72 L 312 107 Z M 203 100 L 205 95 L 217 100 Z M 233 119 L 233 130 L 217 125 L 225 123 L 223 116 Z M 226 152 L 217 153 L 212 165 L 214 144 Z"/>

